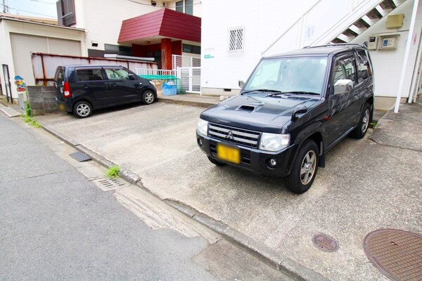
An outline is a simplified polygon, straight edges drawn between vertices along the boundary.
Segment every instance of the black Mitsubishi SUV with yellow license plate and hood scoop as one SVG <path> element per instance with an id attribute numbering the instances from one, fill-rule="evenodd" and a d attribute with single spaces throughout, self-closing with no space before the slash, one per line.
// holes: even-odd
<path id="1" fill-rule="evenodd" d="M 373 72 L 364 44 L 307 47 L 262 58 L 241 93 L 201 113 L 199 147 L 210 162 L 307 191 L 328 150 L 373 115 Z"/>

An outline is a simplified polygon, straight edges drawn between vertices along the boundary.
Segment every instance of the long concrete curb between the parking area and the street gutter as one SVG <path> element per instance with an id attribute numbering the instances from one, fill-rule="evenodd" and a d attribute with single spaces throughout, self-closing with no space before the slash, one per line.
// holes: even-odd
<path id="1" fill-rule="evenodd" d="M 71 145 L 80 152 L 85 153 L 94 161 L 105 166 L 106 168 L 109 168 L 110 166 L 116 166 L 115 163 L 110 162 L 108 159 L 102 157 L 101 155 L 98 155 L 96 152 L 85 148 L 83 145 L 77 143 L 77 141 L 66 139 L 54 129 L 49 128 L 49 126 L 42 125 L 42 128 L 45 131 L 51 133 L 53 136 L 59 138 L 61 141 L 64 141 L 65 143 L 68 143 L 68 145 Z M 141 178 L 138 175 L 132 173 L 132 171 L 122 169 L 120 177 L 123 178 L 125 181 L 128 181 L 129 183 L 137 185 L 139 188 L 146 190 L 155 197 L 158 197 L 153 192 L 151 192 L 151 190 L 145 188 L 145 186 L 143 186 L 141 182 Z M 210 228 L 216 233 L 219 233 L 219 235 L 222 235 L 222 237 L 224 237 L 226 240 L 229 240 L 232 244 L 235 244 L 237 247 L 248 252 L 248 254 L 251 254 L 257 259 L 263 261 L 264 263 L 267 263 L 269 266 L 280 270 L 282 273 L 288 275 L 289 277 L 292 277 L 294 280 L 329 281 L 324 276 L 320 275 L 319 273 L 316 273 L 314 270 L 306 268 L 300 263 L 288 259 L 286 256 L 277 254 L 275 251 L 273 251 L 266 245 L 257 242 L 256 240 L 253 240 L 252 238 L 248 237 L 247 235 L 244 235 L 243 233 L 239 232 L 234 228 L 230 228 L 226 223 L 222 221 L 217 221 L 215 218 L 212 218 L 211 216 L 208 216 L 207 214 L 198 211 L 197 209 L 189 206 L 188 204 L 185 204 L 184 202 L 172 199 L 164 199 L 162 201 L 170 205 L 174 209 L 177 209 L 189 218 L 193 218 L 193 220 L 197 221 L 203 226 Z"/>

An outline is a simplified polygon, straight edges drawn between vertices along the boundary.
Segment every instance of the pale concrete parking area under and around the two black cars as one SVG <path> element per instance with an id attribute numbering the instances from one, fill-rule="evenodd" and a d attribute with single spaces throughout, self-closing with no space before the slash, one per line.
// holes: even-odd
<path id="1" fill-rule="evenodd" d="M 422 233 L 421 151 L 346 138 L 312 188 L 295 195 L 280 178 L 208 162 L 195 138 L 202 110 L 155 103 L 37 120 L 138 174 L 161 199 L 184 202 L 331 280 L 388 280 L 366 259 L 366 235 L 380 228 Z M 317 249 L 319 233 L 339 249 Z"/>

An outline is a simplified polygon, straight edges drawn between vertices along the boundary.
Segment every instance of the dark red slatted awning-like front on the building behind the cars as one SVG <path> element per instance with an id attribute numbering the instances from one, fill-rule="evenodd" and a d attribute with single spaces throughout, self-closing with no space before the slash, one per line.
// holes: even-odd
<path id="1" fill-rule="evenodd" d="M 167 37 L 200 42 L 200 18 L 169 8 L 123 20 L 119 43 Z"/>

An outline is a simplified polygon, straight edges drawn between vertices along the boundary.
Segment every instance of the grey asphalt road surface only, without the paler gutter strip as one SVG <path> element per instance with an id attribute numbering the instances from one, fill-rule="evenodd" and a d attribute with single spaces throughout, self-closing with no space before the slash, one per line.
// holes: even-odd
<path id="1" fill-rule="evenodd" d="M 0 280 L 216 280 L 208 246 L 152 230 L 0 115 Z"/>

